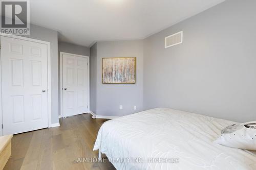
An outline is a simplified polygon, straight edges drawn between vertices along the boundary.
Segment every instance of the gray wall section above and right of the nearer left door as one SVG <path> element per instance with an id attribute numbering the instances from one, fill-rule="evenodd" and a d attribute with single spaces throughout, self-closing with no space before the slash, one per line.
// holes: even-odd
<path id="1" fill-rule="evenodd" d="M 58 32 L 30 25 L 30 35 L 25 36 L 51 43 L 51 93 L 52 124 L 58 123 Z"/>

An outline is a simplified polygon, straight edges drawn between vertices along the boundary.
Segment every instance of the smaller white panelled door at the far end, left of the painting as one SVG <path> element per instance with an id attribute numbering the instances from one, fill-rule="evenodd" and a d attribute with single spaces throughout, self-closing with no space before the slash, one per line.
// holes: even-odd
<path id="1" fill-rule="evenodd" d="M 62 55 L 63 116 L 88 112 L 88 58 Z"/>

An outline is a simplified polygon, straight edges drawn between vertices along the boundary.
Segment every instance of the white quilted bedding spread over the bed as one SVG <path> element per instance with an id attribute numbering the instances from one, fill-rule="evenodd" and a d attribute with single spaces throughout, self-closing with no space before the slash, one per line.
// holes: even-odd
<path id="1" fill-rule="evenodd" d="M 256 169 L 252 153 L 212 142 L 231 124 L 234 122 L 156 108 L 105 122 L 93 150 L 106 154 L 118 170 Z M 119 158 L 125 159 L 119 162 Z M 131 161 L 141 162 L 142 158 L 142 163 Z M 152 158 L 155 162 L 148 161 Z M 156 162 L 171 158 L 179 162 Z"/>

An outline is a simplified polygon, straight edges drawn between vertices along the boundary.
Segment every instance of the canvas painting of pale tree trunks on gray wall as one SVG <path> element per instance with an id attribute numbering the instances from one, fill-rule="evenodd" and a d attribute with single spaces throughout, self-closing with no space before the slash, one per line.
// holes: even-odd
<path id="1" fill-rule="evenodd" d="M 103 58 L 102 83 L 135 84 L 136 58 Z"/>

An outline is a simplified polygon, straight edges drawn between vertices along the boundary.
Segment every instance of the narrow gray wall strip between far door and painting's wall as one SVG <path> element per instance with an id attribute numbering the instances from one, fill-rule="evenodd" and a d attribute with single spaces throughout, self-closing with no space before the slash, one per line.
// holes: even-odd
<path id="1" fill-rule="evenodd" d="M 97 112 L 97 43 L 91 47 L 90 56 L 90 110 Z"/>

